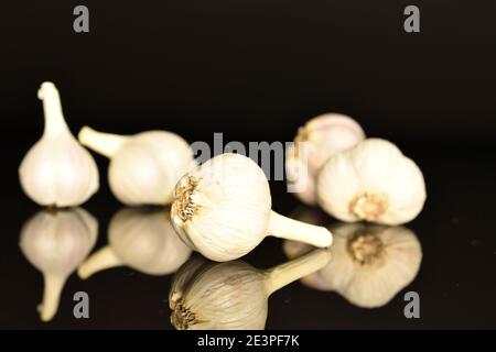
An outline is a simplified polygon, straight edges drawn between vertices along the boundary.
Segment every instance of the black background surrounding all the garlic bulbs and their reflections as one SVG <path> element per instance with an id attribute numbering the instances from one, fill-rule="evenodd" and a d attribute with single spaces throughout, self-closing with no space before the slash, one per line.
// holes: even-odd
<path id="1" fill-rule="evenodd" d="M 85 4 L 90 33 L 73 31 Z M 403 31 L 407 4 L 421 33 Z M 409 224 L 424 251 L 409 289 L 422 319 L 406 320 L 402 295 L 363 310 L 299 284 L 274 295 L 268 328 L 495 328 L 496 3 L 494 1 L 15 1 L 0 4 L 1 197 L 0 328 L 166 328 L 169 278 L 120 268 L 82 283 L 73 276 L 60 315 L 37 321 L 41 276 L 18 249 L 37 207 L 22 195 L 17 168 L 41 136 L 36 90 L 61 90 L 73 132 L 166 129 L 190 142 L 290 141 L 323 112 L 354 117 L 367 135 L 397 143 L 424 172 L 429 200 Z M 119 209 L 105 183 L 85 205 L 100 222 Z M 271 184 L 274 208 L 298 201 Z M 247 257 L 284 261 L 267 240 Z M 91 293 L 99 317 L 72 318 L 71 293 Z M 94 294 L 93 294 L 94 293 Z M 277 298 L 276 298 L 277 297 Z"/>

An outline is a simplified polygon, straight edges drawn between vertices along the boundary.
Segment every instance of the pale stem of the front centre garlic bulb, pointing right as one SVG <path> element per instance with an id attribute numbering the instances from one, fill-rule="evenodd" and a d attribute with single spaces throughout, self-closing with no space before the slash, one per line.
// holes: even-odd
<path id="1" fill-rule="evenodd" d="M 304 223 L 271 211 L 268 233 L 287 240 L 305 242 L 315 246 L 326 248 L 333 242 L 332 233 L 324 227 Z"/>

